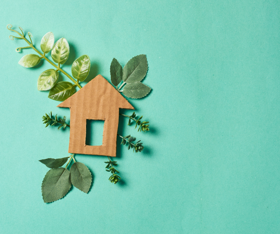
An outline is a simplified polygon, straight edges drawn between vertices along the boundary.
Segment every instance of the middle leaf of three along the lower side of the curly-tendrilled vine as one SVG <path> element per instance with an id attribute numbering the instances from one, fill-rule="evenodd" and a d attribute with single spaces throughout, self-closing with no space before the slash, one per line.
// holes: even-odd
<path id="1" fill-rule="evenodd" d="M 51 89 L 58 79 L 58 72 L 55 69 L 48 69 L 39 75 L 37 88 L 40 91 Z"/>

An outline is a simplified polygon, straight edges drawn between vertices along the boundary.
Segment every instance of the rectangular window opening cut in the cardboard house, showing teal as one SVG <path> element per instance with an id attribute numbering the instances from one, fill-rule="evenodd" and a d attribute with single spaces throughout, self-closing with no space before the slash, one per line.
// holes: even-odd
<path id="1" fill-rule="evenodd" d="M 104 122 L 104 120 L 86 120 L 85 144 L 87 146 L 102 146 Z"/>

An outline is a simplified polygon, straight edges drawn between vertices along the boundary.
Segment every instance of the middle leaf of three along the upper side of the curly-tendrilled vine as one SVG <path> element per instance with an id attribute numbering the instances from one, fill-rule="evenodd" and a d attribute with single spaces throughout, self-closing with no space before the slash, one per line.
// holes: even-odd
<path id="1" fill-rule="evenodd" d="M 65 38 L 60 38 L 52 48 L 52 59 L 56 63 L 64 64 L 69 56 L 69 44 Z"/>

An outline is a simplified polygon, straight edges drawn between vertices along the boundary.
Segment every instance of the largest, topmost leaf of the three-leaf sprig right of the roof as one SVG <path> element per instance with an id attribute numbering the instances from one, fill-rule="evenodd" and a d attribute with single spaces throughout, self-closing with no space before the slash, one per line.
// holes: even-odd
<path id="1" fill-rule="evenodd" d="M 130 59 L 123 69 L 122 80 L 127 84 L 141 81 L 148 70 L 146 55 L 140 54 Z"/>

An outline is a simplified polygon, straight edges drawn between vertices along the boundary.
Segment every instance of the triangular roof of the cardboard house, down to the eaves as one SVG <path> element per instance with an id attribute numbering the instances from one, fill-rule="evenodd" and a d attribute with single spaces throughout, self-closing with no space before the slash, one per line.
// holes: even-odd
<path id="1" fill-rule="evenodd" d="M 83 108 L 102 106 L 134 109 L 132 105 L 117 91 L 102 75 L 97 75 L 83 88 L 71 97 L 61 102 L 57 107 L 73 107 L 82 105 Z"/>

